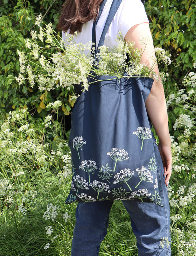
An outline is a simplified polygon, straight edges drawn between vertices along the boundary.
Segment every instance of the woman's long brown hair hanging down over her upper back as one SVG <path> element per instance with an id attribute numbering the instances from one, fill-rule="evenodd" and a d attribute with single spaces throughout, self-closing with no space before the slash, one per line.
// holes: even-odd
<path id="1" fill-rule="evenodd" d="M 57 28 L 68 31 L 70 34 L 75 31 L 81 32 L 82 25 L 95 20 L 99 13 L 99 5 L 103 0 L 67 0 L 63 5 Z"/>

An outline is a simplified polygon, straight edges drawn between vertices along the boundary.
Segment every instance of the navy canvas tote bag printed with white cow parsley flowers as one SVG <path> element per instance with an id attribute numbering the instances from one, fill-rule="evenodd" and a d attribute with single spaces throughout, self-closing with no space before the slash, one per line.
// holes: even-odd
<path id="1" fill-rule="evenodd" d="M 120 2 L 112 3 L 98 47 Z M 153 79 L 96 79 L 71 113 L 73 175 L 65 203 L 137 200 L 163 206 L 163 164 L 145 107 Z"/>

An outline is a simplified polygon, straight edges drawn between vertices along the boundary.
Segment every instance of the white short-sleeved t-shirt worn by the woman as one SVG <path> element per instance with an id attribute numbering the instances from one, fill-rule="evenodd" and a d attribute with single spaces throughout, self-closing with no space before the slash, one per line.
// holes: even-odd
<path id="1" fill-rule="evenodd" d="M 107 0 L 103 12 L 96 25 L 96 44 L 100 40 L 106 19 L 109 15 L 110 7 L 113 0 Z M 134 25 L 149 22 L 144 5 L 140 0 L 123 0 L 118 8 L 116 15 L 114 16 L 112 23 L 106 33 L 104 45 L 109 48 L 117 47 L 116 36 L 119 32 L 125 37 L 128 30 Z M 92 41 L 92 26 L 93 20 L 90 20 L 83 24 L 82 31 L 74 35 L 76 43 L 86 44 Z M 69 32 L 69 31 L 68 31 Z M 64 41 L 65 33 L 62 33 Z"/>

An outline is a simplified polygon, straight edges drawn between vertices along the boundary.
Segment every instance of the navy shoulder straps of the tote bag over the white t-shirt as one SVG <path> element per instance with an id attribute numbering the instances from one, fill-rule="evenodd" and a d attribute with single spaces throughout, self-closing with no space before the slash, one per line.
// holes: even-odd
<path id="1" fill-rule="evenodd" d="M 97 17 L 97 19 L 94 21 L 93 23 L 93 28 L 92 28 L 92 42 L 95 44 L 96 46 L 96 32 L 95 32 L 95 27 L 96 27 L 96 24 L 100 18 L 100 15 L 102 14 L 102 11 L 103 11 L 103 8 L 105 6 L 105 3 L 107 2 L 107 0 L 104 0 L 102 2 L 102 4 L 100 5 L 100 9 L 99 9 L 99 15 Z M 105 35 L 110 27 L 110 24 L 121 4 L 122 0 L 113 0 L 112 2 L 112 5 L 110 7 L 110 12 L 109 12 L 109 15 L 107 17 L 107 20 L 105 22 L 105 26 L 104 26 L 104 29 L 102 31 L 102 35 L 100 37 L 100 40 L 99 40 L 99 43 L 98 43 L 98 46 L 97 46 L 97 51 L 96 51 L 96 54 L 99 52 L 99 47 L 102 46 L 104 44 L 104 40 L 105 40 Z"/>

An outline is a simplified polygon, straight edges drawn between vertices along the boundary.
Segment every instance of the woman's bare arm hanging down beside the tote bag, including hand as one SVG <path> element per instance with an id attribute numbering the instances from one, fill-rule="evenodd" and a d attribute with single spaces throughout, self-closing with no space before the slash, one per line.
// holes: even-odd
<path id="1" fill-rule="evenodd" d="M 140 39 L 147 37 L 148 42 L 144 53 L 141 56 L 141 63 L 145 63 L 149 67 L 153 64 L 151 56 L 155 56 L 153 39 L 149 25 L 147 22 L 135 25 L 125 35 L 125 41 L 135 42 L 135 48 L 144 49 L 145 45 L 141 45 Z M 154 67 L 156 74 L 159 74 L 158 66 Z M 159 151 L 161 154 L 164 171 L 166 175 L 165 183 L 168 185 L 171 176 L 172 154 L 171 140 L 168 129 L 168 116 L 165 100 L 165 93 L 162 83 L 154 80 L 151 92 L 145 102 L 146 110 L 153 124 L 156 134 L 159 137 Z"/>

